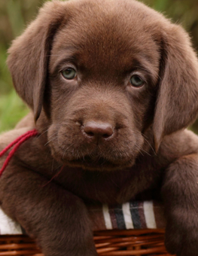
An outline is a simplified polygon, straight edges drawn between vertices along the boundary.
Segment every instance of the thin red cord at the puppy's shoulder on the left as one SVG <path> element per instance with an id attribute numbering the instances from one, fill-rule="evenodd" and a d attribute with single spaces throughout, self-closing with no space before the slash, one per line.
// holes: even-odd
<path id="1" fill-rule="evenodd" d="M 2 166 L 2 169 L 0 169 L 0 177 L 1 177 L 2 173 L 4 172 L 5 168 L 8 166 L 8 163 L 10 162 L 14 153 L 20 147 L 20 145 L 23 142 L 26 142 L 27 139 L 37 136 L 37 135 L 38 135 L 38 131 L 35 129 L 28 131 L 27 133 L 24 133 L 22 136 L 15 139 L 14 142 L 11 142 L 11 144 L 9 144 L 4 150 L 2 150 L 2 152 L 0 152 L 0 157 L 2 157 L 10 148 L 12 148 L 15 145 L 14 148 L 11 150 L 11 152 L 8 154 L 8 157 L 6 158 L 5 163 Z"/>

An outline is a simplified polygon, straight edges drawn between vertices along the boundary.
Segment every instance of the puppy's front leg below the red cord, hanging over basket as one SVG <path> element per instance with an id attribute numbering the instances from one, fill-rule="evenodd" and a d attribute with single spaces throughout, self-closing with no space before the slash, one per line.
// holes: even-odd
<path id="1" fill-rule="evenodd" d="M 13 163 L 11 163 L 13 164 Z M 34 237 L 45 256 L 96 256 L 87 209 L 75 195 L 11 164 L 0 178 L 2 209 Z"/>

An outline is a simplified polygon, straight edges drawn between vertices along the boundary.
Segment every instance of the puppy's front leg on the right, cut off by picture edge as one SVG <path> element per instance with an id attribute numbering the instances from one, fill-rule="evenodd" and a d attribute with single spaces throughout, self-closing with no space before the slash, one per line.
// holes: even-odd
<path id="1" fill-rule="evenodd" d="M 166 169 L 162 188 L 167 218 L 166 248 L 179 256 L 198 254 L 198 154 Z"/>

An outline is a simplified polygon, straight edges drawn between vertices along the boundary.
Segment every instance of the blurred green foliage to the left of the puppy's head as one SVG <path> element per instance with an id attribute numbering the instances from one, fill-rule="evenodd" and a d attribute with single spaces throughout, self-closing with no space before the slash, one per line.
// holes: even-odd
<path id="1" fill-rule="evenodd" d="M 7 49 L 11 41 L 34 19 L 44 1 L 0 0 L 0 133 L 10 130 L 28 113 L 28 108 L 15 93 L 6 66 Z"/>

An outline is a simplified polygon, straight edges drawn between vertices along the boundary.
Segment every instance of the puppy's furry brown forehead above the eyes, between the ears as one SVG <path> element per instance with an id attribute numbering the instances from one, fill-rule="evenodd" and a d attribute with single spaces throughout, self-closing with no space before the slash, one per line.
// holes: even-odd
<path id="1" fill-rule="evenodd" d="M 69 4 L 69 19 L 53 41 L 51 63 L 56 65 L 69 55 L 85 66 L 102 64 L 109 69 L 111 63 L 112 69 L 125 69 L 142 59 L 157 72 L 159 14 L 133 0 L 75 0 Z"/>

